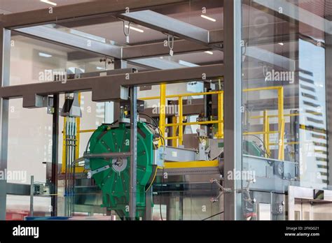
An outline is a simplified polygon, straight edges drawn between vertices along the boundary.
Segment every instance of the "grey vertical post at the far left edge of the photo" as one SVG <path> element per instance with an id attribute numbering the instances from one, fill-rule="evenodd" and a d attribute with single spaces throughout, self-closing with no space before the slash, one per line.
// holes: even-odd
<path id="1" fill-rule="evenodd" d="M 11 63 L 11 31 L 0 25 L 0 81 L 1 86 L 9 85 Z M 0 98 L 0 170 L 7 169 L 8 157 L 8 107 L 9 101 Z M 6 219 L 7 181 L 0 180 L 0 220 Z"/>

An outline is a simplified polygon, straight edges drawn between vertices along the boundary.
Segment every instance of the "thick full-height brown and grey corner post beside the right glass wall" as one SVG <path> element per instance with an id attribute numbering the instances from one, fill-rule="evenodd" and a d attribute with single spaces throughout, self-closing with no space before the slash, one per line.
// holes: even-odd
<path id="1" fill-rule="evenodd" d="M 224 175 L 242 170 L 242 1 L 223 1 L 224 86 Z M 242 181 L 224 177 L 225 220 L 242 219 Z"/>

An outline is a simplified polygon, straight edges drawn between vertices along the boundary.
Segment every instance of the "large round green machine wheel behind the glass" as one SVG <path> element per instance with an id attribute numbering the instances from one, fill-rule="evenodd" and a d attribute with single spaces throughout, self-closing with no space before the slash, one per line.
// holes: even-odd
<path id="1" fill-rule="evenodd" d="M 147 124 L 137 123 L 137 207 L 136 217 L 144 217 L 146 187 L 153 182 L 154 133 Z M 130 125 L 99 126 L 90 138 L 90 154 L 130 152 Z M 102 207 L 114 210 L 121 219 L 129 217 L 130 157 L 90 158 L 95 183 L 102 189 Z"/>

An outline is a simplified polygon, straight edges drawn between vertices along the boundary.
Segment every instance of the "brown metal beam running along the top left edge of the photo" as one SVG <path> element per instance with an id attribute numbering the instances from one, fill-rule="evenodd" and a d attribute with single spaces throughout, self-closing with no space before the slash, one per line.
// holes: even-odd
<path id="1" fill-rule="evenodd" d="M 144 8 L 153 8 L 167 4 L 184 3 L 187 0 L 108 0 L 108 1 L 90 1 L 86 3 L 77 3 L 67 6 L 57 6 L 32 10 L 22 13 L 11 13 L 3 15 L 0 20 L 4 22 L 4 28 L 20 28 L 50 23 L 62 23 L 68 21 L 83 20 L 89 17 L 104 17 L 116 15 L 125 12 L 126 8 L 130 10 L 141 10 Z"/>

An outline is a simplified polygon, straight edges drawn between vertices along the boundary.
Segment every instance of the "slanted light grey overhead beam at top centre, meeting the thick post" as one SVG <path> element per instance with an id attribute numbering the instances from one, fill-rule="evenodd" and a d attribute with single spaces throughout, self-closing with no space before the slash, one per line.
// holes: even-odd
<path id="1" fill-rule="evenodd" d="M 196 27 L 193 24 L 188 24 L 166 15 L 161 15 L 160 13 L 155 13 L 151 10 L 123 13 L 120 17 L 129 22 L 141 24 L 145 27 L 167 33 L 172 36 L 178 36 L 186 40 L 195 40 L 200 43 L 209 44 L 209 31 L 206 29 Z"/>

